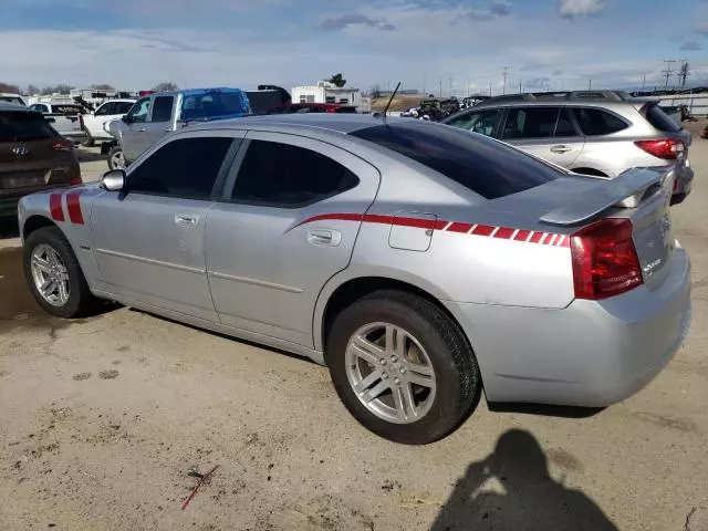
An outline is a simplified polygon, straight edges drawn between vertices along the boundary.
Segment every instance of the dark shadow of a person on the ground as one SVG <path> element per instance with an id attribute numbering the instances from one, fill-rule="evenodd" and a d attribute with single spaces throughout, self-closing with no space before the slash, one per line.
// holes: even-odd
<path id="1" fill-rule="evenodd" d="M 472 462 L 430 531 L 617 531 L 593 500 L 549 475 L 539 441 L 521 429 L 506 431 L 494 451 Z"/>

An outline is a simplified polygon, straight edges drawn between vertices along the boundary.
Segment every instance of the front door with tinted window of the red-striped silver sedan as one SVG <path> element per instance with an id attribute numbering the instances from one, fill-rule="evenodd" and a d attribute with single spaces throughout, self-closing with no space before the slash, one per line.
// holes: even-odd
<path id="1" fill-rule="evenodd" d="M 232 136 L 205 134 L 173 139 L 132 167 L 126 192 L 96 198 L 91 229 L 106 292 L 218 321 L 206 275 L 205 223 L 215 184 L 236 149 Z"/>

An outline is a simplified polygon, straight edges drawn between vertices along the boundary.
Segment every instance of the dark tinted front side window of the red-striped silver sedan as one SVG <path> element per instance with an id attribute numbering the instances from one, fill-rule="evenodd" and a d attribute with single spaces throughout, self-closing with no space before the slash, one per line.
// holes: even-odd
<path id="1" fill-rule="evenodd" d="M 233 138 L 180 138 L 165 144 L 131 174 L 128 190 L 208 199 Z"/>

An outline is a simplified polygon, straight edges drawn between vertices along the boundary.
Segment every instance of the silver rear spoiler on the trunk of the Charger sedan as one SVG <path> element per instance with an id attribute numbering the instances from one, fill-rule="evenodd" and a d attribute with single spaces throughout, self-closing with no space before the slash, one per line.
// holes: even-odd
<path id="1" fill-rule="evenodd" d="M 598 180 L 595 188 L 584 190 L 581 197 L 564 207 L 551 210 L 542 216 L 540 221 L 560 226 L 579 225 L 610 207 L 637 208 L 649 188 L 664 185 L 669 171 L 634 168 L 614 179 Z"/>

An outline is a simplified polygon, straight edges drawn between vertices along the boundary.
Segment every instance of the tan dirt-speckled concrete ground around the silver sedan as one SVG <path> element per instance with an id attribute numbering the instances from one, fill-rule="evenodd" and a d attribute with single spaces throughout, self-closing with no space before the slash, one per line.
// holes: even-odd
<path id="1" fill-rule="evenodd" d="M 6 229 L 0 529 L 708 530 L 708 140 L 691 162 L 694 323 L 663 374 L 589 418 L 482 400 L 427 447 L 363 429 L 306 361 L 127 308 L 49 317 Z"/>

